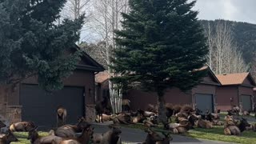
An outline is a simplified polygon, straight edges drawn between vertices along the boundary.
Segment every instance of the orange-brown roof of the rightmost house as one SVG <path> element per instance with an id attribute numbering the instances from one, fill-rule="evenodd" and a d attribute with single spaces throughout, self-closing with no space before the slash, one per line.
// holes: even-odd
<path id="1" fill-rule="evenodd" d="M 216 77 L 222 83 L 223 86 L 227 85 L 242 85 L 246 78 L 250 79 L 252 85 L 255 86 L 254 79 L 250 73 L 237 73 L 237 74 L 217 74 Z"/>

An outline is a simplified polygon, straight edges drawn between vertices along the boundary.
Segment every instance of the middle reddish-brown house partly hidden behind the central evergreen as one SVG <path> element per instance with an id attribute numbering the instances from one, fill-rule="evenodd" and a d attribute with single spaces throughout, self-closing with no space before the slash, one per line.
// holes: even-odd
<path id="1" fill-rule="evenodd" d="M 178 88 L 167 90 L 164 96 L 166 102 L 197 106 L 198 109 L 203 111 L 214 111 L 216 108 L 216 89 L 221 84 L 208 66 L 204 66 L 200 70 L 207 70 L 207 74 L 198 86 L 186 92 L 182 92 Z M 98 75 L 98 77 L 101 76 Z M 106 80 L 108 78 L 104 79 L 105 82 L 107 82 Z M 98 97 L 101 97 L 101 95 Z M 158 102 L 157 94 L 138 89 L 128 90 L 126 94 L 123 94 L 123 98 L 130 99 L 131 110 L 146 109 L 148 104 L 156 105 Z"/>

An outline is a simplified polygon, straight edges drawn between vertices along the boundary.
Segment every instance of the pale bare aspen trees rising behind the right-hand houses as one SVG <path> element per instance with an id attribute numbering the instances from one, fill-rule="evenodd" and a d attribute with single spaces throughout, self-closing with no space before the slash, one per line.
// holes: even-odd
<path id="1" fill-rule="evenodd" d="M 213 30 L 213 28 L 215 28 Z M 234 42 L 232 30 L 224 21 L 217 21 L 215 26 L 205 27 L 209 54 L 208 65 L 215 74 L 246 72 L 249 66 L 242 58 L 242 52 Z"/>

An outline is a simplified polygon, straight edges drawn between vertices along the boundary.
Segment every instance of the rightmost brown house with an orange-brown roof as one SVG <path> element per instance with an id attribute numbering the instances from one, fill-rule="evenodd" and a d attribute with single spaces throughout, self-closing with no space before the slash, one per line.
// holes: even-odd
<path id="1" fill-rule="evenodd" d="M 219 110 L 230 110 L 240 106 L 241 110 L 252 110 L 254 104 L 254 79 L 250 73 L 218 74 L 222 86 L 217 89 L 216 102 Z"/>

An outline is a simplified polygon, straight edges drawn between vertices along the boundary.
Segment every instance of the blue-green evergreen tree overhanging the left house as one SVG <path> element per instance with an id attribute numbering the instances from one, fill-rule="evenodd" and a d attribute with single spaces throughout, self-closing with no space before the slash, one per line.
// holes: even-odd
<path id="1" fill-rule="evenodd" d="M 45 90 L 62 88 L 79 60 L 84 16 L 56 25 L 66 0 L 0 0 L 0 81 L 21 82 L 38 75 Z M 72 51 L 71 54 L 66 52 Z"/>

